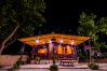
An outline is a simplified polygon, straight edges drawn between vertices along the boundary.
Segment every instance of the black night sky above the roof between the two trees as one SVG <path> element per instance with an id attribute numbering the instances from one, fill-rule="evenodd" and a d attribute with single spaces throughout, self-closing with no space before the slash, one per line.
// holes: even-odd
<path id="1" fill-rule="evenodd" d="M 98 17 L 107 16 L 106 4 L 106 0 L 46 0 L 48 24 L 39 28 L 39 31 L 77 34 L 81 12 L 94 13 Z"/>

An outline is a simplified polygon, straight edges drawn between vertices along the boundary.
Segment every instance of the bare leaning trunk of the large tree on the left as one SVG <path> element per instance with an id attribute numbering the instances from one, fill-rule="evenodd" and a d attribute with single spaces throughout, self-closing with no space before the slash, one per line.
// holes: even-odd
<path id="1" fill-rule="evenodd" d="M 10 36 L 6 37 L 2 41 L 2 44 L 1 44 L 1 47 L 0 47 L 0 55 L 2 54 L 2 51 L 4 49 L 6 42 L 14 36 L 14 33 L 17 31 L 18 28 L 19 28 L 19 25 L 17 24 L 16 27 L 14 28 L 14 30 L 10 33 Z"/>

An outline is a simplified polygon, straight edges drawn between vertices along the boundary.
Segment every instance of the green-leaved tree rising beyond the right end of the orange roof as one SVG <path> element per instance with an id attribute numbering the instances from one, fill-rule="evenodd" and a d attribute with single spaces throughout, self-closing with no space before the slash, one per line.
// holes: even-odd
<path id="1" fill-rule="evenodd" d="M 98 33 L 104 32 L 107 34 L 107 17 L 98 18 L 93 13 L 88 15 L 82 12 L 79 24 L 78 33 L 80 36 L 90 37 L 94 46 L 98 44 Z"/>

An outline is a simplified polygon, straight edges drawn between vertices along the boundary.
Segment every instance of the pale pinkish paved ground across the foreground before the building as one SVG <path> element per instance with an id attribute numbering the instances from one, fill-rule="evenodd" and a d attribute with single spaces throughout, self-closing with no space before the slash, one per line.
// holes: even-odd
<path id="1" fill-rule="evenodd" d="M 75 67 L 58 67 L 58 71 L 107 71 L 107 63 L 98 63 L 99 70 L 90 70 L 88 69 L 88 65 L 77 65 Z M 25 65 L 22 66 L 19 70 L 16 71 L 50 71 L 50 65 Z M 81 67 L 80 67 L 81 66 Z M 42 68 L 46 67 L 46 68 Z M 84 68 L 83 68 L 84 67 Z M 0 71 L 8 71 L 6 69 L 0 69 Z"/>

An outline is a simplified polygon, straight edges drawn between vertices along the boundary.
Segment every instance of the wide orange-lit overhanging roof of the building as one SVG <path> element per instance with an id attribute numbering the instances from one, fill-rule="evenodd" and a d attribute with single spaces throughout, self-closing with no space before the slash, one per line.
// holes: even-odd
<path id="1" fill-rule="evenodd" d="M 81 43 L 83 43 L 84 41 L 89 40 L 89 37 L 79 37 L 79 36 L 70 36 L 70 34 L 57 34 L 57 33 L 52 33 L 52 34 L 43 34 L 43 36 L 37 36 L 37 37 L 30 37 L 30 38 L 23 38 L 23 39 L 18 39 L 21 42 L 28 44 L 30 46 L 35 46 L 36 44 L 48 44 L 48 43 L 52 43 L 51 39 L 55 38 L 55 42 L 57 43 L 63 43 L 63 44 L 75 44 L 75 45 L 79 45 Z M 34 39 L 35 43 L 34 43 Z M 63 40 L 62 40 L 63 39 Z M 73 39 L 71 41 L 71 39 Z M 70 42 L 69 42 L 70 41 Z M 43 43 L 45 42 L 45 43 Z"/>

